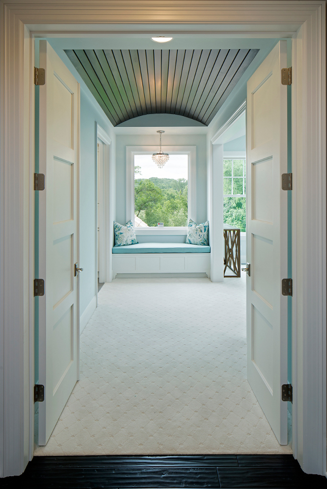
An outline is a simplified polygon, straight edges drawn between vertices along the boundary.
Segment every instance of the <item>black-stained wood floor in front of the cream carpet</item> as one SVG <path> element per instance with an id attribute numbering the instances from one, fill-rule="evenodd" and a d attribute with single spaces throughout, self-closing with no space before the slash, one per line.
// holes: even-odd
<path id="1" fill-rule="evenodd" d="M 327 488 L 292 455 L 34 457 L 1 488 Z"/>

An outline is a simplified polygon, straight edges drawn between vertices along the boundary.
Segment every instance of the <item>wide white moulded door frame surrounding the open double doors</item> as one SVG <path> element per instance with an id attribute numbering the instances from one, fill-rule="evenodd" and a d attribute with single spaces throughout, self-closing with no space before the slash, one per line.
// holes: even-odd
<path id="1" fill-rule="evenodd" d="M 207 24 L 206 35 L 216 37 L 225 35 L 226 24 L 231 24 L 229 37 L 292 36 L 293 450 L 305 472 L 325 475 L 325 1 L 209 0 L 200 10 L 200 2 L 185 0 L 163 0 L 160 5 L 121 0 L 119 7 L 110 0 L 73 4 L 74 14 L 71 4 L 60 0 L 0 1 L 0 475 L 20 474 L 33 457 L 34 36 L 37 31 L 42 37 L 46 31 L 101 36 L 94 24 L 101 24 L 108 36 L 112 24 L 119 31 L 119 24 L 142 21 L 138 34 L 151 37 L 159 13 L 173 35 L 185 32 L 178 23 L 201 23 Z M 245 18 L 251 19 L 251 34 L 242 27 Z M 78 34 L 69 24 L 82 24 Z M 213 24 L 222 26 L 218 34 Z"/>

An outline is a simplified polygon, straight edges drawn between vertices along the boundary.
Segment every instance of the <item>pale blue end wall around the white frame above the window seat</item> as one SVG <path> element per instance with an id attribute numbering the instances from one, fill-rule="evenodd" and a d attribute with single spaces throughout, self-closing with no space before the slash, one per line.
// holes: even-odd
<path id="1" fill-rule="evenodd" d="M 116 136 L 116 220 L 126 222 L 126 146 L 158 145 L 158 134 Z M 206 136 L 164 134 L 163 145 L 196 146 L 196 221 L 207 216 Z M 177 241 L 177 240 L 176 240 Z"/>

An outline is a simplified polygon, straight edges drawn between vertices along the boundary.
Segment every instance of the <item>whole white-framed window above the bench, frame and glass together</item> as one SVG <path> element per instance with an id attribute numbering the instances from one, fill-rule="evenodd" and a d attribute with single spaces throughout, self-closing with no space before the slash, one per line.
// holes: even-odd
<path id="1" fill-rule="evenodd" d="M 188 219 L 196 220 L 196 146 L 163 146 L 169 160 L 161 169 L 157 152 L 157 145 L 126 146 L 126 222 L 139 235 L 186 234 Z"/>

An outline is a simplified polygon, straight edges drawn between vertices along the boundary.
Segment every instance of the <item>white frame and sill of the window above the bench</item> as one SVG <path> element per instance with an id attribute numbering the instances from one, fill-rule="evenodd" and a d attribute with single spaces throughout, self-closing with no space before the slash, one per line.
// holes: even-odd
<path id="1" fill-rule="evenodd" d="M 163 153 L 187 154 L 188 179 L 187 179 L 187 217 L 196 221 L 196 146 L 163 146 Z M 132 221 L 134 225 L 134 156 L 146 155 L 158 152 L 158 145 L 151 146 L 126 146 L 126 222 Z M 184 235 L 187 234 L 187 226 L 166 226 L 158 228 L 135 228 L 137 234 L 153 235 Z"/>

